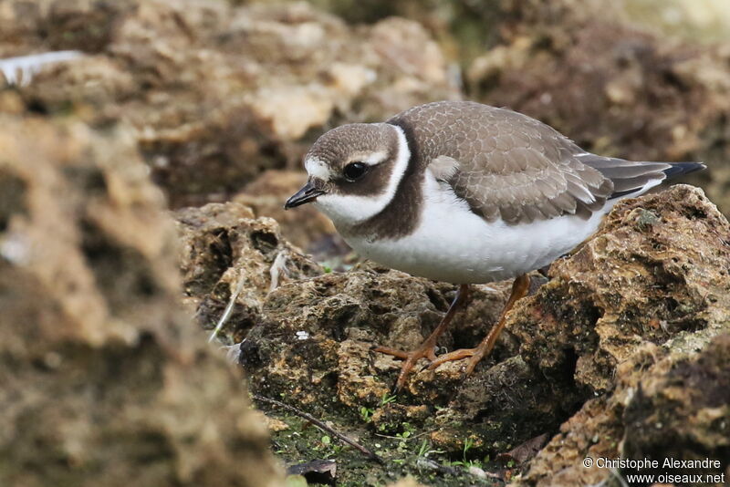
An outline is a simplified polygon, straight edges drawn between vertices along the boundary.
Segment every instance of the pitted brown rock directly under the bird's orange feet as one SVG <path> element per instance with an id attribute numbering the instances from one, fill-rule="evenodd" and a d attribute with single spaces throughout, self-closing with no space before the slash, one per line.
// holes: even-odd
<path id="1" fill-rule="evenodd" d="M 497 291 L 475 286 L 469 318 L 460 317 L 440 345 L 478 343 L 501 311 L 508 285 L 495 285 Z M 565 397 L 554 395 L 520 357 L 481 368 L 465 381 L 461 364 L 416 372 L 399 404 L 383 404 L 400 362 L 370 348 L 416 347 L 441 319 L 453 293 L 453 285 L 370 264 L 293 281 L 266 296 L 263 317 L 241 347 L 241 361 L 257 393 L 286 397 L 327 415 L 370 408 L 378 431 L 402 432 L 405 423 L 434 430 L 427 438 L 434 448 L 448 451 L 463 448 L 469 435 L 485 450 L 557 428 L 569 412 L 561 408 Z M 486 362 L 495 364 L 516 350 L 505 336 Z M 435 416 L 434 406 L 439 408 Z"/>

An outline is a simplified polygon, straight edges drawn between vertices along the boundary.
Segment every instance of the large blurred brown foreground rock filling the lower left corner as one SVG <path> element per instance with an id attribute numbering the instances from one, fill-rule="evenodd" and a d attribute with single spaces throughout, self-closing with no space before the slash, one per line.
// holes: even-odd
<path id="1" fill-rule="evenodd" d="M 0 484 L 282 485 L 129 131 L 0 125 Z"/>

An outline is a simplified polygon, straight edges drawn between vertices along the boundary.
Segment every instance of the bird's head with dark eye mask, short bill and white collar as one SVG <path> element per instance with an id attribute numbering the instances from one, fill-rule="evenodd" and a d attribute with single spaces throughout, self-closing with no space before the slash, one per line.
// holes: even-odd
<path id="1" fill-rule="evenodd" d="M 313 202 L 337 226 L 363 222 L 391 202 L 410 158 L 395 125 L 353 123 L 329 130 L 304 158 L 307 184 L 284 208 Z"/>

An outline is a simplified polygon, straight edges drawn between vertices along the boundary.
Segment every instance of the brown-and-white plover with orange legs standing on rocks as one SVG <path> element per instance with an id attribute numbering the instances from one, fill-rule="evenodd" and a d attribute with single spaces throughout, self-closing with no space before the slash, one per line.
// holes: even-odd
<path id="1" fill-rule="evenodd" d="M 596 155 L 527 115 L 454 100 L 328 130 L 304 167 L 307 183 L 285 209 L 311 203 L 361 256 L 459 285 L 419 347 L 374 348 L 403 360 L 395 389 L 422 358 L 430 368 L 469 358 L 465 373 L 472 374 L 527 295 L 527 273 L 586 241 L 621 199 L 705 168 Z M 506 279 L 514 279 L 511 293 L 481 343 L 437 357 L 436 342 L 466 303 L 469 285 Z"/>

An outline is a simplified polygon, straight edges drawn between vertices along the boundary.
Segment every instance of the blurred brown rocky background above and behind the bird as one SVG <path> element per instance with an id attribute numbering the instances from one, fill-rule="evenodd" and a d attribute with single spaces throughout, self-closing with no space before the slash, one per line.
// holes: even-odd
<path id="1" fill-rule="evenodd" d="M 310 252 L 327 221 L 280 211 L 308 145 L 444 98 L 608 156 L 705 161 L 691 181 L 730 211 L 725 0 L 3 0 L 0 58 L 0 112 L 120 124 L 172 208 L 245 202 Z"/>

